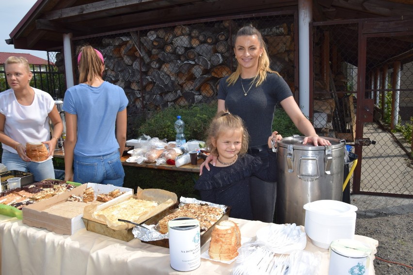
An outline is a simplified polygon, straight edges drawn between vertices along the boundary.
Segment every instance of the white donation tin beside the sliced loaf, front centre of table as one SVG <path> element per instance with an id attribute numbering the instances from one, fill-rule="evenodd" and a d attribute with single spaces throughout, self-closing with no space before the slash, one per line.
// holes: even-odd
<path id="1" fill-rule="evenodd" d="M 180 217 L 168 222 L 171 267 L 191 271 L 201 265 L 201 231 L 197 219 Z"/>

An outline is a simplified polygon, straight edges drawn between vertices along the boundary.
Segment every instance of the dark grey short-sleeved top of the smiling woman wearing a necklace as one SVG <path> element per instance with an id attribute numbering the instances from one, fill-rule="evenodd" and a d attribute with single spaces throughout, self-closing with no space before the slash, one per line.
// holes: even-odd
<path id="1" fill-rule="evenodd" d="M 220 80 L 218 99 L 225 100 L 225 108 L 245 122 L 251 137 L 250 146 L 267 144 L 272 133 L 275 106 L 293 95 L 286 81 L 277 74 L 267 73 L 267 79 L 260 86 L 251 87 L 253 78 L 242 79 L 245 92 L 251 87 L 245 96 L 241 77 L 230 86 L 227 78 Z"/>

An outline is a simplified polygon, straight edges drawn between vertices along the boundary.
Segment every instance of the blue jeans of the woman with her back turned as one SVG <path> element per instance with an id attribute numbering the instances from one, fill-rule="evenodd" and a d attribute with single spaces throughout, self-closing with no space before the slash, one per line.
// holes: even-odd
<path id="1" fill-rule="evenodd" d="M 76 183 L 102 183 L 122 187 L 125 178 L 119 150 L 102 156 L 75 154 L 73 170 L 73 180 Z"/>

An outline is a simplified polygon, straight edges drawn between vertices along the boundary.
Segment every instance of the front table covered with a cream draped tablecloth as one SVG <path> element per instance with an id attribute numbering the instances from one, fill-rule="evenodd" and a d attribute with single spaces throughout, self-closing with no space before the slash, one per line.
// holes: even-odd
<path id="1" fill-rule="evenodd" d="M 269 225 L 260 221 L 230 219 L 238 224 L 243 237 L 254 238 L 258 229 Z M 373 253 L 377 252 L 376 240 L 359 235 L 355 239 L 370 244 L 374 248 Z M 201 253 L 208 249 L 208 242 L 201 247 Z M 0 215 L 0 244 L 3 275 L 230 275 L 235 264 L 201 259 L 201 266 L 196 270 L 177 272 L 170 266 L 168 248 L 144 244 L 138 239 L 124 242 L 86 229 L 70 236 L 59 235 L 29 227 L 21 220 L 3 215 Z M 328 274 L 329 251 L 311 244 L 308 238 L 305 250 L 321 256 L 318 274 Z M 374 275 L 373 259 L 370 261 L 369 275 Z"/>

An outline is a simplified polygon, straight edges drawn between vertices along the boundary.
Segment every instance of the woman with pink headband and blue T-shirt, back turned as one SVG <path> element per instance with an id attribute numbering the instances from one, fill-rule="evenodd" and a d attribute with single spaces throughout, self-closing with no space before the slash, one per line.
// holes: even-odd
<path id="1" fill-rule="evenodd" d="M 79 84 L 64 94 L 66 139 L 64 180 L 122 186 L 120 157 L 125 148 L 127 97 L 102 78 L 102 54 L 83 46 L 78 55 Z"/>

